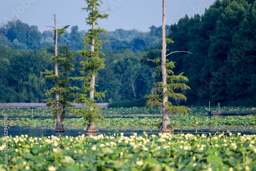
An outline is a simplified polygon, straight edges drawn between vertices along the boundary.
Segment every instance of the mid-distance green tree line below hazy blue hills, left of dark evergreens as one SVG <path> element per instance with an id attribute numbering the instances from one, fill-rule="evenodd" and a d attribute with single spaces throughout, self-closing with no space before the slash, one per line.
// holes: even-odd
<path id="1" fill-rule="evenodd" d="M 0 102 L 40 102 L 45 99 L 44 94 L 52 87 L 52 82 L 44 81 L 41 72 L 54 70 L 54 49 L 13 50 L 0 46 L 0 51 Z M 99 71 L 96 90 L 108 92 L 98 102 L 138 100 L 150 92 L 155 79 L 154 69 L 143 63 L 145 53 L 127 49 L 104 53 L 106 69 Z M 72 77 L 81 76 L 79 61 L 81 56 L 74 52 L 72 63 L 76 70 Z M 71 84 L 80 87 L 82 82 Z"/>

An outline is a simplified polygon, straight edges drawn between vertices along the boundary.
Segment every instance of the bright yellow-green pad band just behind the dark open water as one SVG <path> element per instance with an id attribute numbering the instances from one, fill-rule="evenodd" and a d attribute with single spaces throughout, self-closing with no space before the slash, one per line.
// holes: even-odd
<path id="1" fill-rule="evenodd" d="M 255 130 L 256 116 L 228 116 L 228 117 L 197 117 L 197 116 L 181 116 L 171 117 L 170 122 L 174 129 L 222 129 L 240 126 L 241 129 Z M 56 121 L 51 118 L 47 119 L 29 119 L 21 118 L 17 120 L 9 120 L 9 125 L 30 126 L 30 127 L 50 127 L 54 126 Z M 0 124 L 4 124 L 4 120 L 0 120 Z M 96 126 L 98 129 L 159 129 L 161 118 L 105 118 L 98 121 Z M 81 118 L 71 118 L 65 120 L 68 127 L 84 128 Z"/>

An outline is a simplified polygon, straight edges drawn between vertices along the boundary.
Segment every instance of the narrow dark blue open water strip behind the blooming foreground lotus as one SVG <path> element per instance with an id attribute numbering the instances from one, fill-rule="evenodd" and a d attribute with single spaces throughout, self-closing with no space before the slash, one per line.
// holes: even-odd
<path id="1" fill-rule="evenodd" d="M 3 130 L 0 132 L 0 137 L 4 136 L 4 127 L 0 127 L 0 130 Z M 137 133 L 137 135 L 141 135 L 145 132 L 148 135 L 158 135 L 160 132 L 159 130 L 105 130 L 105 129 L 98 129 L 97 133 L 93 133 L 93 135 L 99 135 L 99 134 L 105 134 L 105 135 L 114 135 L 114 134 L 119 134 L 123 133 L 124 136 L 131 136 L 134 133 Z M 232 133 L 238 133 L 240 132 L 241 134 L 256 134 L 256 131 L 231 131 Z M 174 134 L 178 133 L 190 133 L 190 134 L 221 134 L 221 132 L 215 132 L 213 130 L 208 130 L 208 129 L 199 129 L 199 130 L 175 130 Z M 14 136 L 20 136 L 20 135 L 28 135 L 29 137 L 47 137 L 47 136 L 79 136 L 79 135 L 91 135 L 90 133 L 86 133 L 86 130 L 83 129 L 66 129 L 65 133 L 55 133 L 55 130 L 51 129 L 38 129 L 38 128 L 24 128 L 24 127 L 19 127 L 19 126 L 11 126 L 8 128 L 8 135 L 14 137 Z M 225 132 L 225 134 L 229 134 L 229 132 Z"/>

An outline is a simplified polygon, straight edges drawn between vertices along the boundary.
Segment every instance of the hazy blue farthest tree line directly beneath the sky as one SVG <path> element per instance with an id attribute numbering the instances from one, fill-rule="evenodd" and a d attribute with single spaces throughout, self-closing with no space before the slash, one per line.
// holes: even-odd
<path id="1" fill-rule="evenodd" d="M 47 27 L 46 27 L 47 28 Z M 102 49 L 131 51 L 143 51 L 144 48 L 154 48 L 161 40 L 161 28 L 152 26 L 150 32 L 140 32 L 138 30 L 123 30 L 101 34 L 101 39 L 109 40 Z M 60 35 L 59 46 L 69 46 L 70 50 L 81 50 L 81 43 L 86 31 L 79 31 L 78 26 L 73 26 L 71 31 Z M 42 49 L 52 47 L 54 44 L 52 30 L 40 32 L 37 26 L 29 26 L 19 19 L 13 19 L 0 28 L 0 45 L 9 46 L 16 50 Z"/>

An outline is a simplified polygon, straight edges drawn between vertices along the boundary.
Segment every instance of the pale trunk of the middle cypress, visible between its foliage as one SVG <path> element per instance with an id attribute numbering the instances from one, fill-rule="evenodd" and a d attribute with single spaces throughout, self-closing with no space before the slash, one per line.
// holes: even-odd
<path id="1" fill-rule="evenodd" d="M 96 4 L 94 3 L 93 4 L 93 11 L 96 10 Z M 96 26 L 96 21 L 93 20 L 93 23 L 92 23 L 92 30 L 95 29 L 95 26 Z M 92 53 L 94 52 L 94 49 L 95 49 L 95 39 L 92 38 L 92 44 L 91 44 L 91 51 Z M 92 56 L 93 57 L 93 56 Z M 92 100 L 94 100 L 94 87 L 95 87 L 95 75 L 92 74 L 92 80 L 90 82 L 90 88 L 92 88 L 92 90 L 90 91 L 90 98 Z M 94 110 L 94 106 L 90 106 L 90 110 Z M 95 133 L 97 132 L 96 128 L 95 128 L 95 125 L 94 125 L 94 122 L 92 119 L 89 120 L 89 123 L 88 123 L 88 126 L 87 126 L 87 130 L 86 130 L 87 133 Z"/>

